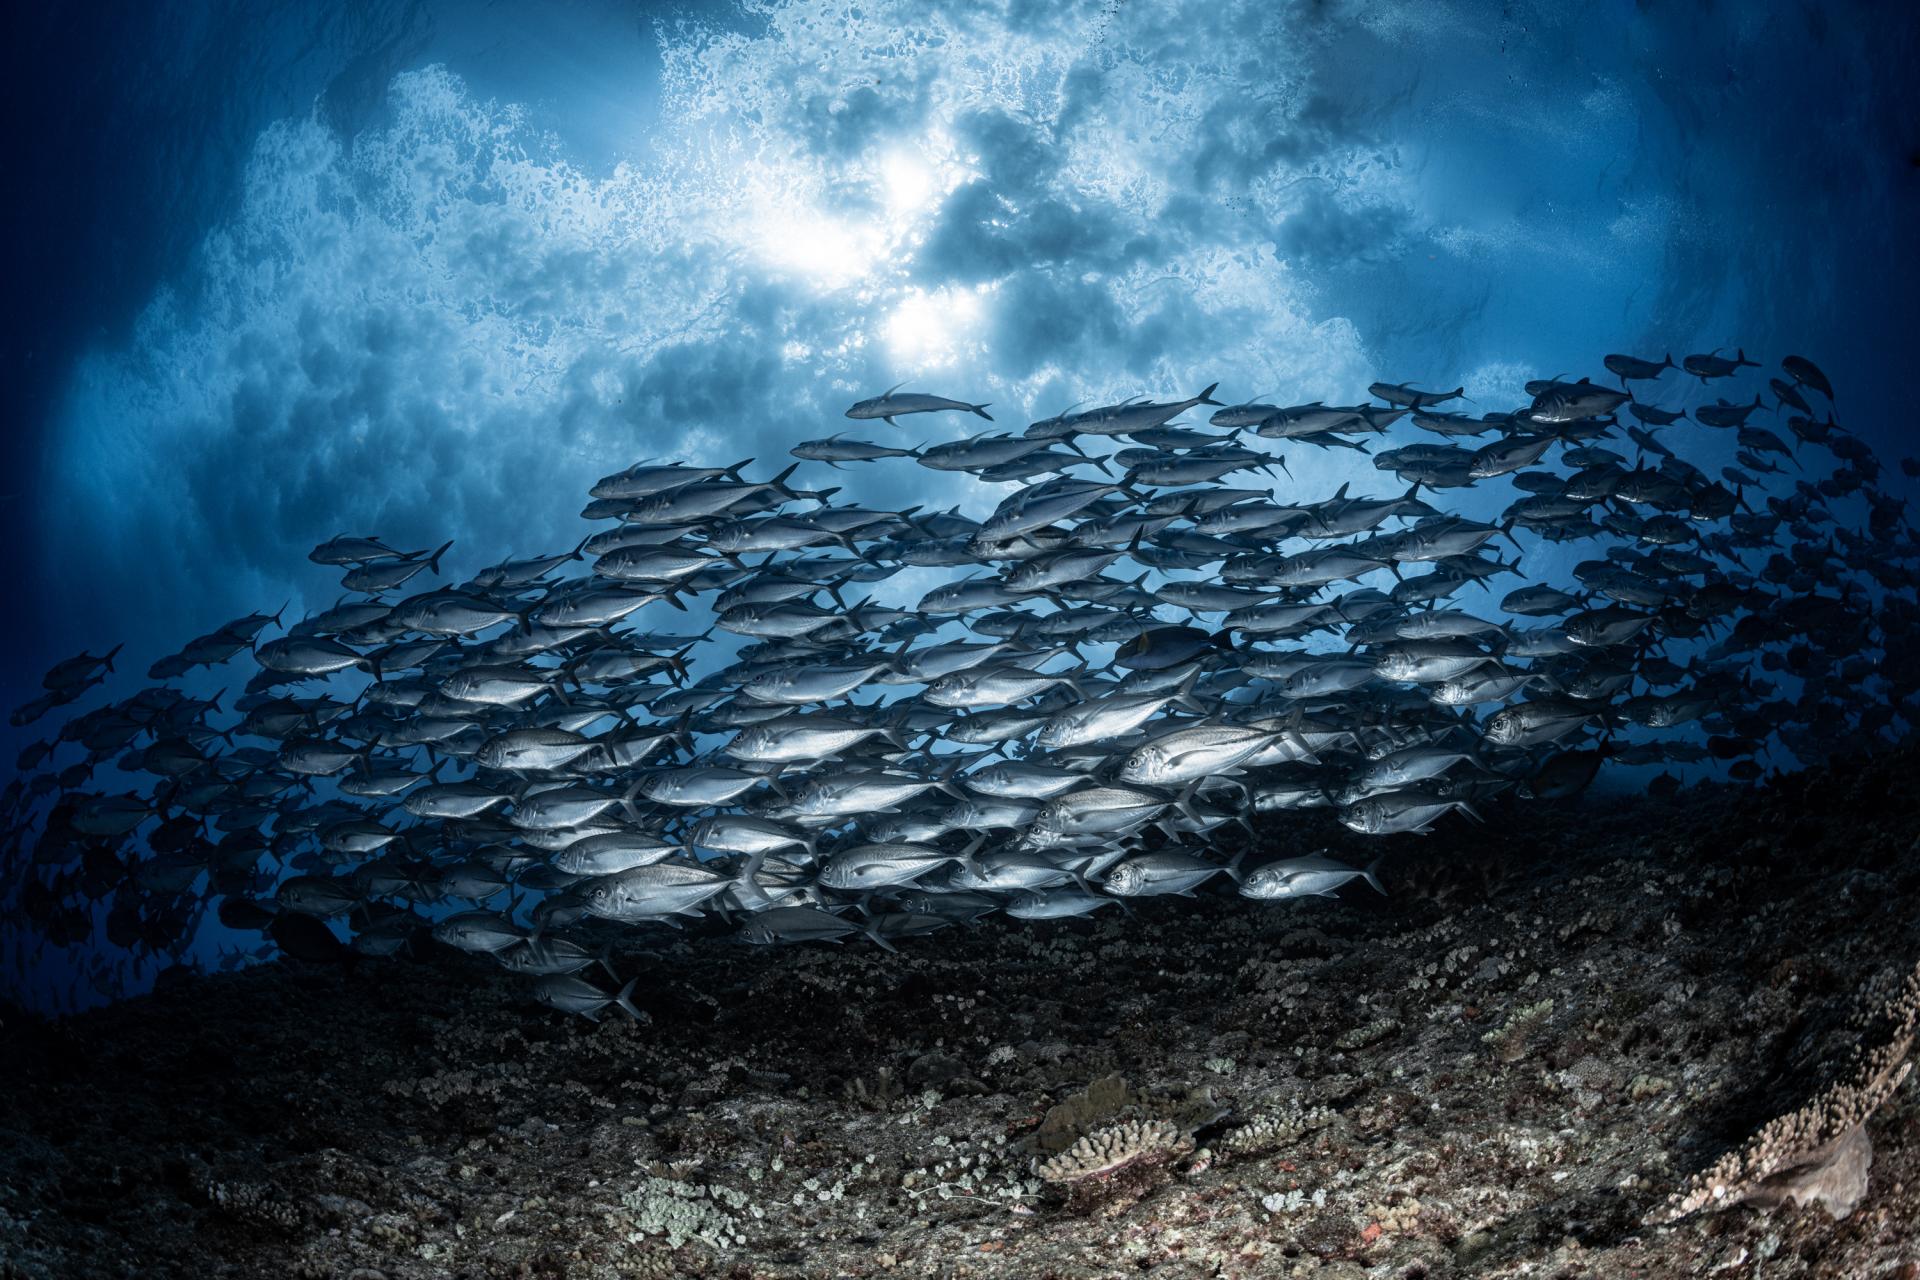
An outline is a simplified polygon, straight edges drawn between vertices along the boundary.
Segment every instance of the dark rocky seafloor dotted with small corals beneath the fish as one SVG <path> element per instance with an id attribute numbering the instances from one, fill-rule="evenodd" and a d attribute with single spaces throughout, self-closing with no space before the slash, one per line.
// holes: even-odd
<path id="1" fill-rule="evenodd" d="M 1847 1219 L 1642 1224 L 1920 960 L 1916 768 L 1263 829 L 1390 898 L 655 933 L 645 1025 L 438 948 L 8 1011 L 0 1276 L 1916 1276 L 1912 1082 Z M 1167 1157 L 1035 1173 L 1123 1119 Z"/>

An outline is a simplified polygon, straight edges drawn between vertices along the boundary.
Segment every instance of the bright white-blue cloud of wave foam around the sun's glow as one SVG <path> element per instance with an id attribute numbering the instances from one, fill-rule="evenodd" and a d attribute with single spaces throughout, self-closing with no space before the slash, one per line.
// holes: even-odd
<path id="1" fill-rule="evenodd" d="M 662 134 L 607 173 L 566 157 L 564 123 L 476 100 L 445 67 L 396 77 L 357 136 L 267 129 L 192 271 L 73 372 L 42 503 L 52 568 L 184 629 L 267 597 L 330 603 L 303 555 L 342 530 L 457 537 L 457 570 L 572 545 L 603 472 L 772 459 L 849 390 L 929 370 L 941 384 L 916 390 L 995 401 L 1016 426 L 1194 378 L 1369 380 L 1359 336 L 1311 317 L 1258 225 L 1162 217 L 1164 175 L 1240 92 L 1231 61 L 1175 75 L 1125 15 L 1104 35 L 889 4 L 764 19 L 760 36 L 666 31 Z M 1054 138 L 1089 61 L 1110 84 Z M 872 138 L 828 136 L 858 109 Z M 991 161 L 964 142 L 983 113 L 1058 161 L 1044 198 L 1110 228 L 1096 257 L 1037 269 L 1160 322 L 1152 359 L 1085 340 L 1054 380 L 1000 376 L 1031 342 L 1000 292 L 922 269 L 947 198 Z M 1121 263 L 1129 242 L 1154 248 Z M 849 480 L 849 497 L 900 501 Z"/>

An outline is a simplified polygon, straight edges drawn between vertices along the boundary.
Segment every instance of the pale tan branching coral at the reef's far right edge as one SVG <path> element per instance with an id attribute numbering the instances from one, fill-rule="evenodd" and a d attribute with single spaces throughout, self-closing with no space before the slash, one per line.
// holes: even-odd
<path id="1" fill-rule="evenodd" d="M 1672 1222 L 1701 1209 L 1755 1203 L 1766 1209 L 1793 1203 L 1826 1207 L 1843 1219 L 1866 1196 L 1874 1146 L 1866 1119 L 1893 1096 L 1912 1071 L 1907 1061 L 1920 1031 L 1920 965 L 1880 1009 L 1889 1023 L 1878 1048 L 1857 1046 L 1841 1079 L 1799 1111 L 1761 1128 L 1743 1148 L 1680 1188 L 1647 1217 Z"/>

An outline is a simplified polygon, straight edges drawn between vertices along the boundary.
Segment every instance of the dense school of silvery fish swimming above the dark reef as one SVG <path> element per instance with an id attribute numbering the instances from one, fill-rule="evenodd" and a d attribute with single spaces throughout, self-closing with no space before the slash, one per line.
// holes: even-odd
<path id="1" fill-rule="evenodd" d="M 637 1015 L 641 975 L 591 977 L 628 929 L 893 948 L 1210 881 L 1384 892 L 1323 854 L 1246 864 L 1252 816 L 1425 831 L 1500 793 L 1576 794 L 1609 760 L 1751 781 L 1901 733 L 1920 547 L 1820 368 L 1788 357 L 1772 403 L 1686 413 L 1653 391 L 1757 363 L 1603 363 L 1619 386 L 1534 382 L 1503 413 L 1386 382 L 1354 405 L 1210 386 L 948 443 L 839 432 L 764 478 L 641 462 L 593 486 L 578 547 L 459 585 L 426 587 L 447 545 L 344 533 L 311 553 L 338 604 L 215 628 L 19 756 L 12 961 L 104 938 L 106 988 L 184 956 L 211 910 L 259 954 L 430 935 L 551 1007 Z M 989 407 L 895 388 L 847 416 Z M 1709 436 L 1736 464 L 1684 461 Z M 1306 447 L 1371 455 L 1390 495 L 1281 497 Z M 804 462 L 1002 497 L 985 518 L 835 503 L 799 487 Z M 1511 501 L 1448 512 L 1469 486 Z M 1588 558 L 1530 581 L 1542 543 Z M 904 572 L 937 585 L 881 603 Z M 119 652 L 54 666 L 13 723 Z M 242 662 L 238 695 L 175 683 Z"/>

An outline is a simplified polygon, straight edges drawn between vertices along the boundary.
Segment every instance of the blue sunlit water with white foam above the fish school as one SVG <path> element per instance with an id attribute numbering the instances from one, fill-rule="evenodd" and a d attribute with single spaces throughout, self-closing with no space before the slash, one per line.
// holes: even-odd
<path id="1" fill-rule="evenodd" d="M 8 706 L 81 649 L 129 643 L 125 695 L 230 616 L 324 608 L 332 533 L 570 547 L 591 478 L 772 459 L 902 380 L 1016 426 L 1215 380 L 1498 409 L 1605 351 L 1745 347 L 1912 451 L 1907 6 L 19 21 Z M 970 501 L 914 484 L 885 499 Z"/>

